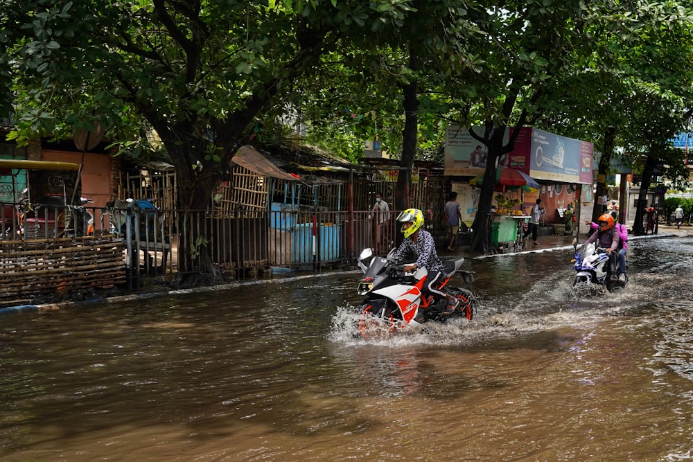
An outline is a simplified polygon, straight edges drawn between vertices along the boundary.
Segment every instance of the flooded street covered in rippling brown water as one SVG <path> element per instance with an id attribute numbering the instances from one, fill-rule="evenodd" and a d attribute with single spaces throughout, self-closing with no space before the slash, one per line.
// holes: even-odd
<path id="1" fill-rule="evenodd" d="M 693 458 L 693 239 L 467 260 L 474 321 L 354 337 L 359 274 L 0 316 L 2 461 Z M 453 285 L 464 285 L 462 278 Z"/>

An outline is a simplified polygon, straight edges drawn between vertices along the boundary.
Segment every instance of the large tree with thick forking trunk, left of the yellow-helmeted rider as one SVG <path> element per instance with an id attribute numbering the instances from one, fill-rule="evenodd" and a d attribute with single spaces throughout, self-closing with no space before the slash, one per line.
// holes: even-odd
<path id="1" fill-rule="evenodd" d="M 96 119 L 118 139 L 135 132 L 123 120 L 145 121 L 175 166 L 178 206 L 204 210 L 277 95 L 340 39 L 396 25 L 403 9 L 400 0 L 5 0 L 0 86 L 17 97 L 20 141 Z M 205 236 L 190 223 L 179 231 L 178 282 L 220 281 Z"/>

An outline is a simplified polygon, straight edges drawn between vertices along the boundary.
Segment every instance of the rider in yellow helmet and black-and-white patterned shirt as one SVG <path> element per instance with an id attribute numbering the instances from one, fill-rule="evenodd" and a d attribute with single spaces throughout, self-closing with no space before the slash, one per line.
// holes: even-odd
<path id="1" fill-rule="evenodd" d="M 448 303 L 444 314 L 455 312 L 455 308 L 459 305 L 459 300 L 435 288 L 435 285 L 444 276 L 444 267 L 435 250 L 433 236 L 425 229 L 421 229 L 423 212 L 418 208 L 407 208 L 407 210 L 397 216 L 397 221 L 402 223 L 401 231 L 404 235 L 404 240 L 395 251 L 394 256 L 392 256 L 392 263 L 402 263 L 404 258 L 414 254 L 416 263 L 405 265 L 405 272 L 412 272 L 416 268 L 426 267 L 428 276 L 426 276 L 422 292 L 447 299 Z"/>

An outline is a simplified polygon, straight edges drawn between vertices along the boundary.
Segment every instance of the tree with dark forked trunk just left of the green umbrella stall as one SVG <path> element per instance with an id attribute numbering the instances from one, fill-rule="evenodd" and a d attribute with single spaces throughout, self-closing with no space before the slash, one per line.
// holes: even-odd
<path id="1" fill-rule="evenodd" d="M 532 121 L 536 100 L 551 79 L 563 78 L 575 65 L 578 50 L 588 37 L 584 24 L 593 14 L 581 2 L 507 1 L 489 6 L 485 24 L 488 39 L 478 45 L 485 65 L 481 73 L 464 75 L 459 81 L 459 125 L 484 127 L 482 134 L 470 131 L 486 145 L 488 157 L 479 207 L 472 228 L 473 249 L 491 253 L 489 212 L 493 199 L 498 160 L 514 148 L 519 129 Z M 507 130 L 514 129 L 509 142 Z"/>

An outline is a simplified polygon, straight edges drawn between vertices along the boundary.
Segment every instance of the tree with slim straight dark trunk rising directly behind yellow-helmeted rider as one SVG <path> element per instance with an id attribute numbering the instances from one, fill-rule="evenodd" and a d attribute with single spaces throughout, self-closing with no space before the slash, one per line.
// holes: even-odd
<path id="1" fill-rule="evenodd" d="M 367 134 L 385 135 L 381 141 L 401 160 L 394 197 L 398 210 L 410 206 L 410 172 L 414 158 L 422 154 L 421 121 L 428 136 L 444 132 L 441 116 L 448 112 L 450 99 L 441 98 L 446 81 L 478 70 L 475 43 L 483 37 L 479 23 L 487 16 L 477 3 L 466 0 L 412 0 L 401 6 L 396 21 L 374 25 L 369 35 L 343 42 L 347 53 L 340 50 L 324 57 L 326 66 L 317 69 L 320 78 L 312 85 L 325 86 L 328 75 L 326 86 L 333 98 L 320 99 L 318 90 L 308 97 L 310 107 L 322 106 L 310 115 L 314 127 L 333 123 L 335 112 L 337 118 L 348 116 L 342 108 L 354 109 L 358 121 L 374 111 L 372 121 L 365 117 Z M 377 8 L 392 6 L 380 3 Z M 343 88 L 335 88 L 339 79 Z M 362 130 L 359 125 L 355 131 Z"/>

